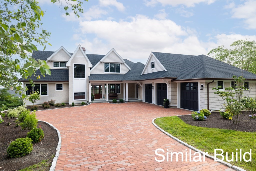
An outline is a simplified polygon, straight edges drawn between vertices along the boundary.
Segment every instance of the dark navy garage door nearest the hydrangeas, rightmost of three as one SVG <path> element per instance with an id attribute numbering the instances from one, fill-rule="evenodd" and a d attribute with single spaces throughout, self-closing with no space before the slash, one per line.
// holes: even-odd
<path id="1" fill-rule="evenodd" d="M 180 108 L 198 111 L 198 82 L 180 83 Z"/>

